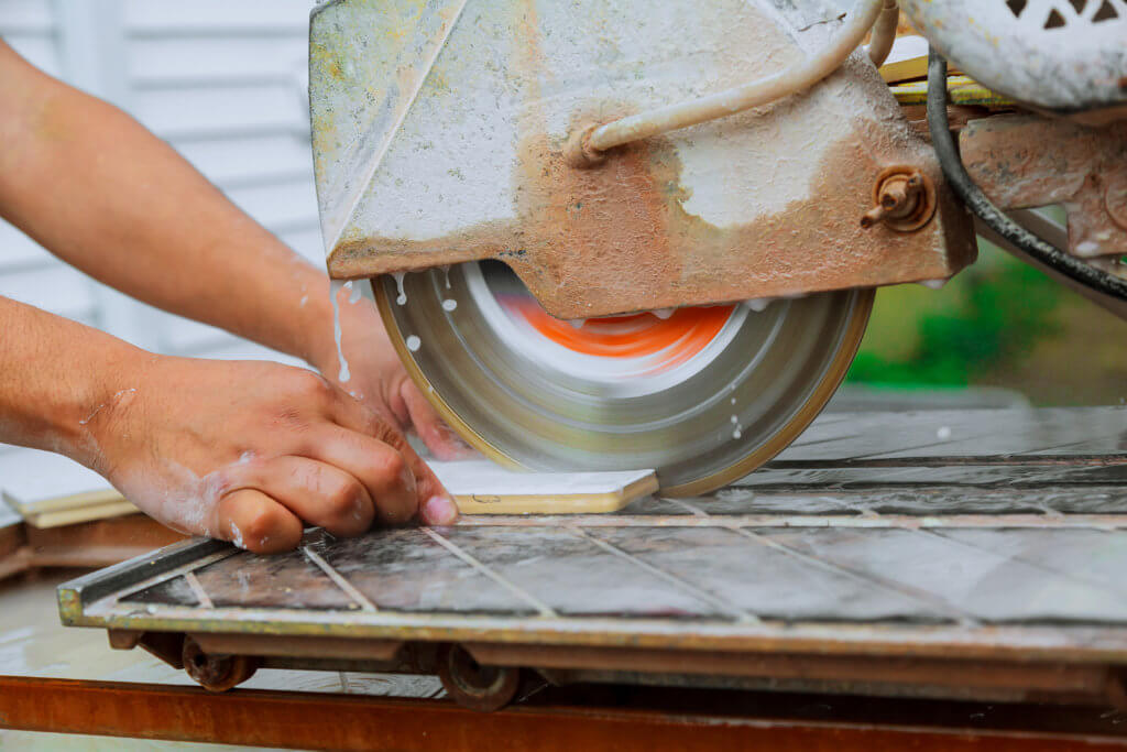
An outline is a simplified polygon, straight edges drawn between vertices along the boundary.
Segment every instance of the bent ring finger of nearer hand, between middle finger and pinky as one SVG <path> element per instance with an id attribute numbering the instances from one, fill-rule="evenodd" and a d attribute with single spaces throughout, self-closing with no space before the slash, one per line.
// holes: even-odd
<path id="1" fill-rule="evenodd" d="M 350 538 L 372 527 L 375 507 L 364 484 L 352 474 L 308 457 L 276 457 L 245 465 L 231 475 L 276 499 L 300 519 Z"/>

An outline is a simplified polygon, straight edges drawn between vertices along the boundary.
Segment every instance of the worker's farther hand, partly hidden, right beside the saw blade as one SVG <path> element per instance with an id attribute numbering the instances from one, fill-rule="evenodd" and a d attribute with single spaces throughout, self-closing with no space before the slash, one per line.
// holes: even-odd
<path id="1" fill-rule="evenodd" d="M 316 339 L 320 346 L 313 351 L 311 365 L 401 431 L 414 430 L 437 459 L 456 460 L 472 453 L 407 375 L 372 301 L 349 293 L 347 289 L 338 293 L 340 352 L 348 363 L 348 380 L 340 378 L 340 353 L 330 331 Z"/>

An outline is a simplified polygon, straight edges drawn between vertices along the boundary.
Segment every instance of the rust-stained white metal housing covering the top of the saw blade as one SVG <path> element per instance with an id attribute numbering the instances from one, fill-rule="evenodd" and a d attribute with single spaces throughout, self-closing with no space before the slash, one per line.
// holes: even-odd
<path id="1" fill-rule="evenodd" d="M 330 275 L 477 259 L 549 313 L 946 278 L 967 216 L 872 63 L 806 92 L 570 166 L 577 127 L 722 90 L 824 46 L 820 1 L 338 0 L 310 33 L 318 198 Z M 922 228 L 863 229 L 888 168 L 935 186 Z"/>

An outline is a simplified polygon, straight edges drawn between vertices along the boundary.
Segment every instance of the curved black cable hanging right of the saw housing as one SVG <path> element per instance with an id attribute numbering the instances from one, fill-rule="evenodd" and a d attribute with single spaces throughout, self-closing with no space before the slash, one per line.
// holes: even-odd
<path id="1" fill-rule="evenodd" d="M 1127 301 L 1127 281 L 1090 266 L 1041 240 L 1003 214 L 970 178 L 947 120 L 947 61 L 934 50 L 928 55 L 928 127 L 931 130 L 931 143 L 939 158 L 939 166 L 943 168 L 947 182 L 967 209 L 1005 240 L 1054 272 L 1104 295 Z"/>

